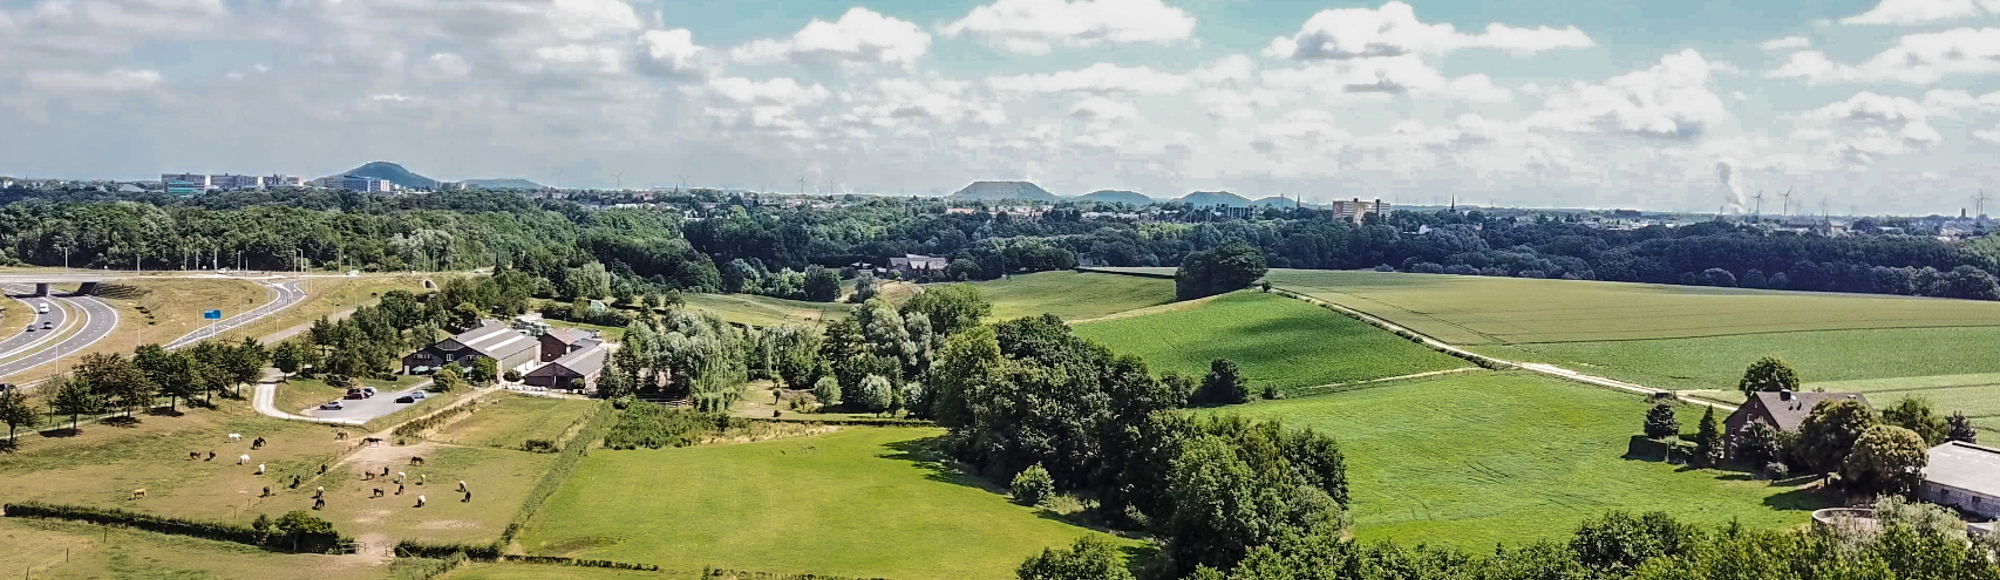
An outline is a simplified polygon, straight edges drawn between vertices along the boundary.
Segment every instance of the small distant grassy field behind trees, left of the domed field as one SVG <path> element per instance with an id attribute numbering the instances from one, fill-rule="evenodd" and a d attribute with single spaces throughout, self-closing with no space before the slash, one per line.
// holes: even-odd
<path id="1" fill-rule="evenodd" d="M 1040 272 L 972 286 L 992 300 L 996 320 L 1048 312 L 1076 322 L 1174 302 L 1174 280 L 1116 274 Z"/>

